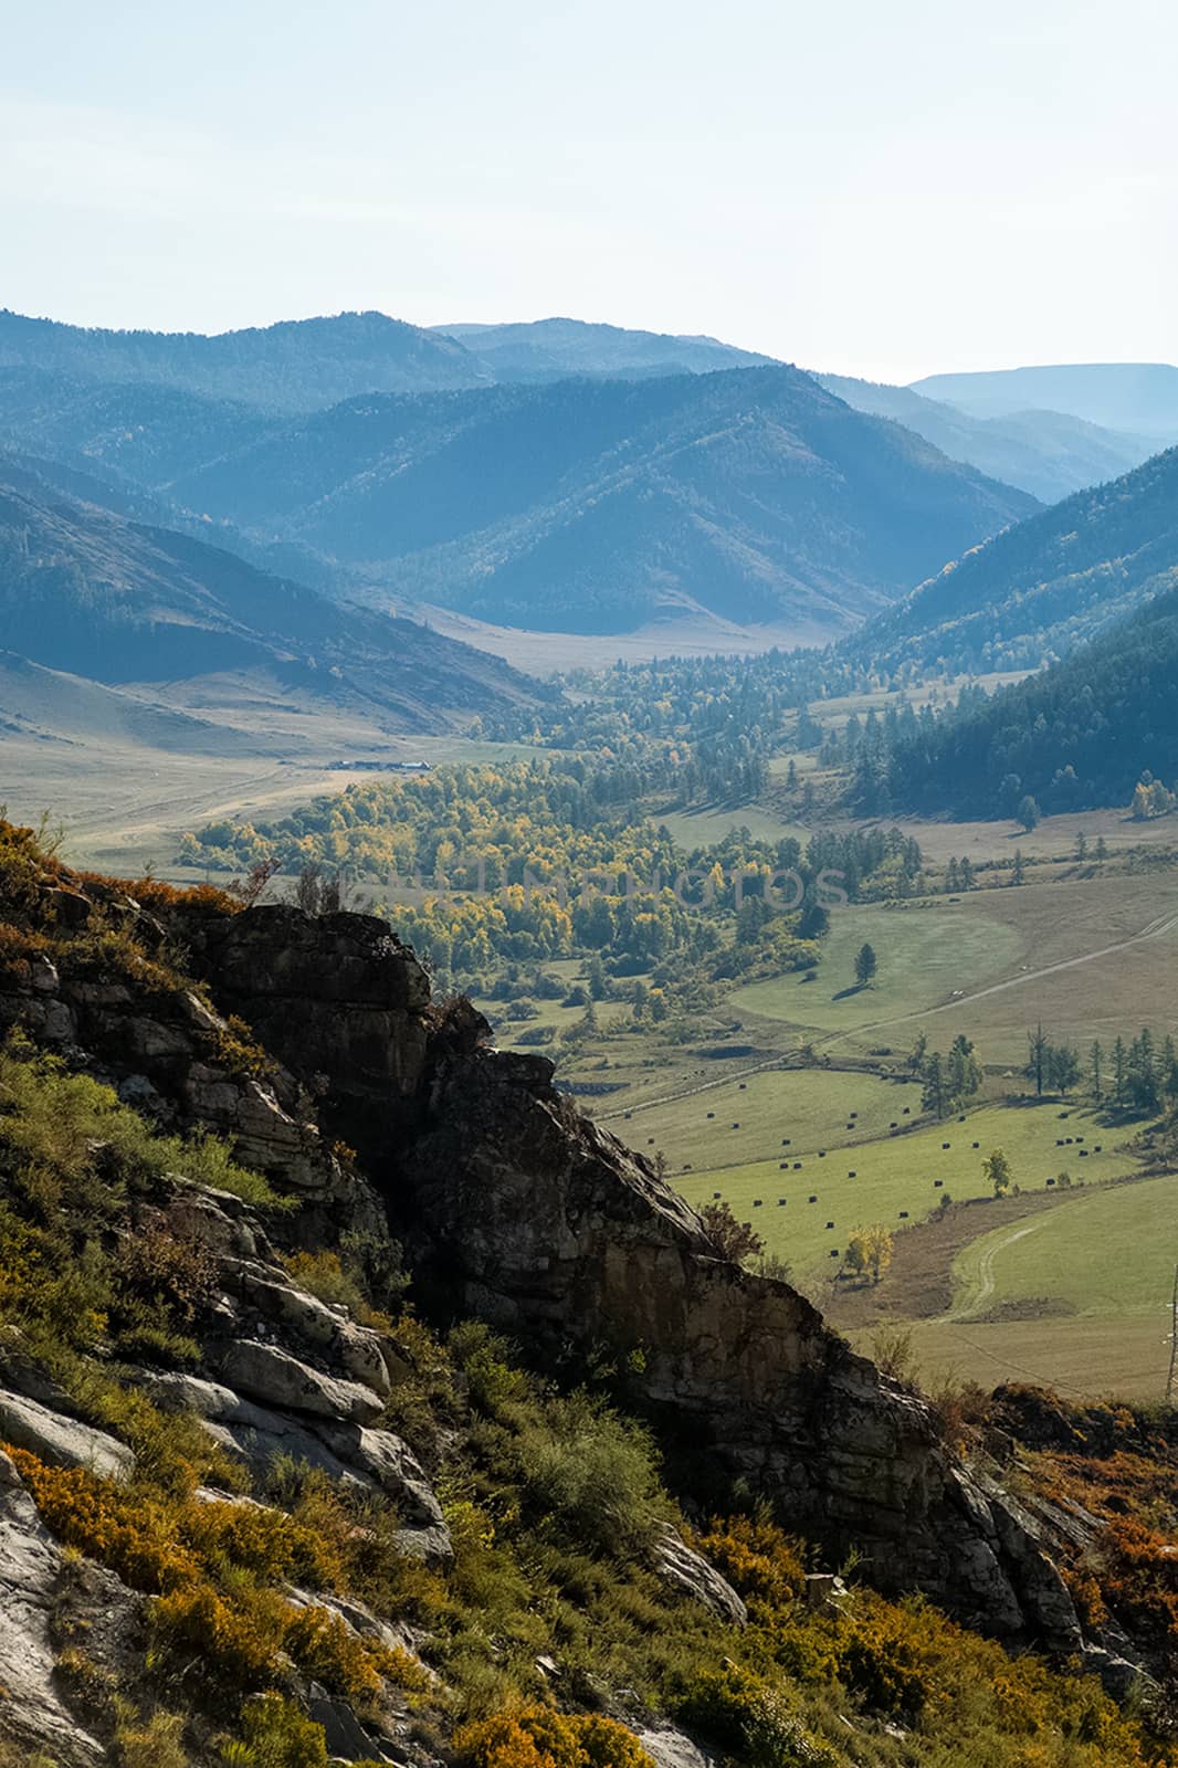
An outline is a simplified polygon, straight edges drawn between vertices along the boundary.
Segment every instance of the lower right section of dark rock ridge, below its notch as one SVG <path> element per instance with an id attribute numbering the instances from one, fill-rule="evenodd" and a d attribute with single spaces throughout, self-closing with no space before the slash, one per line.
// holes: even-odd
<path id="1" fill-rule="evenodd" d="M 971 1625 L 1058 1650 L 1081 1634 L 1035 1531 L 789 1285 L 718 1259 L 639 1156 L 582 1119 L 543 1057 L 447 1054 L 386 1177 L 455 1305 L 531 1344 L 612 1345 L 635 1398 L 697 1473 L 769 1497 L 791 1528 L 858 1547 L 884 1589 L 923 1588 Z M 410 1208 L 407 1208 L 410 1204 Z"/>

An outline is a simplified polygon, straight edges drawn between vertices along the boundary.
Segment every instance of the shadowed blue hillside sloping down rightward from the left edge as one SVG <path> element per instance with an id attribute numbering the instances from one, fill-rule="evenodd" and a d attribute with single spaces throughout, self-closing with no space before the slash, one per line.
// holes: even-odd
<path id="1" fill-rule="evenodd" d="M 407 728 L 539 690 L 425 628 L 343 610 L 233 553 L 64 495 L 0 463 L 0 608 L 9 649 L 106 684 L 258 670 L 311 700 L 364 700 Z"/>

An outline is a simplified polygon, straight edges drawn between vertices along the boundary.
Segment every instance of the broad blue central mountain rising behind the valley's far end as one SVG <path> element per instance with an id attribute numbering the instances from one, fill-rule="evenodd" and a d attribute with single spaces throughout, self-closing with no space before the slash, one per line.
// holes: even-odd
<path id="1" fill-rule="evenodd" d="M 702 613 L 822 642 L 1036 507 L 785 366 L 301 417 L 12 368 L 0 435 L 320 587 L 539 631 Z"/>

